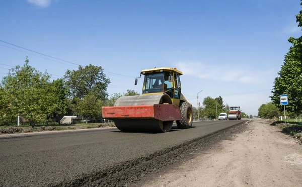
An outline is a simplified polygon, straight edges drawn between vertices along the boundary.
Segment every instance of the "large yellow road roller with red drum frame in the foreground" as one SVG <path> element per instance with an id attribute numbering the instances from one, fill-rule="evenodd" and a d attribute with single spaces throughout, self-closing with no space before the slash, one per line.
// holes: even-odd
<path id="1" fill-rule="evenodd" d="M 180 129 L 190 128 L 193 123 L 193 106 L 181 93 L 177 68 L 160 67 L 141 70 L 144 76 L 140 96 L 124 96 L 112 107 L 102 107 L 103 118 L 113 120 L 123 132 L 169 132 L 174 121 Z"/>

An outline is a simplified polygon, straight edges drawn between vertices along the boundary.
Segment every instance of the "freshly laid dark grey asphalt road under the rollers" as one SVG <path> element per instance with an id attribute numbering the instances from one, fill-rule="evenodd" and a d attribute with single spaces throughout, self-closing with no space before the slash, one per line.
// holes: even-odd
<path id="1" fill-rule="evenodd" d="M 117 129 L 0 138 L 0 186 L 70 184 L 108 166 L 145 157 L 245 120 L 200 121 L 160 134 Z"/>

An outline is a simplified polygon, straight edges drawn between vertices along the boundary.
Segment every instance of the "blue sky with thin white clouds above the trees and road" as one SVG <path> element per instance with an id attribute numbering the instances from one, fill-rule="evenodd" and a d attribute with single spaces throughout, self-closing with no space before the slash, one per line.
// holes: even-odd
<path id="1" fill-rule="evenodd" d="M 177 67 L 182 92 L 196 107 L 223 98 L 257 115 L 270 101 L 290 44 L 299 0 L 11 0 L 0 1 L 0 40 L 81 65 L 102 66 L 109 94 L 141 93 L 141 69 Z M 7 47 L 5 47 L 5 46 Z M 63 76 L 77 65 L 58 63 L 0 42 L 0 79 L 25 56 L 39 71 Z M 53 59 L 54 60 L 54 59 Z M 56 60 L 58 61 L 58 60 Z M 3 65 L 6 64 L 6 65 Z M 113 73 L 127 76 L 115 75 Z"/>

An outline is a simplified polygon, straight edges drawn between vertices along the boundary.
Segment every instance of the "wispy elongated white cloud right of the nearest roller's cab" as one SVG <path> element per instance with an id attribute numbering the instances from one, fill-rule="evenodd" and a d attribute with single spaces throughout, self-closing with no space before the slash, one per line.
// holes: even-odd
<path id="1" fill-rule="evenodd" d="M 263 83 L 267 81 L 267 75 L 272 74 L 271 71 L 253 71 L 238 63 L 211 65 L 201 62 L 178 62 L 176 67 L 186 75 L 225 82 Z"/>

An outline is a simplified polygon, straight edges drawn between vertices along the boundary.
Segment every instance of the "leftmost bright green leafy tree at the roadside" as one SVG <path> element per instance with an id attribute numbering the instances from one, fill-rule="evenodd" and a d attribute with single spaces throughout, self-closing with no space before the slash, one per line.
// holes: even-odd
<path id="1" fill-rule="evenodd" d="M 40 73 L 28 63 L 26 57 L 22 67 L 10 69 L 8 76 L 3 78 L 6 97 L 2 108 L 6 110 L 6 118 L 22 116 L 34 128 L 37 123 L 45 122 L 46 117 L 53 112 L 52 106 L 57 96 L 47 72 Z"/>

